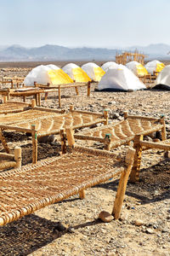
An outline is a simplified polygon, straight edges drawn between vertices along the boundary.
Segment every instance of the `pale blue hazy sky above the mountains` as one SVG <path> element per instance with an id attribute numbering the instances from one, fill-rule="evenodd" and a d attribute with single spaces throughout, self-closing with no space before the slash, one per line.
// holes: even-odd
<path id="1" fill-rule="evenodd" d="M 169 0 L 0 0 L 0 44 L 170 44 Z"/>

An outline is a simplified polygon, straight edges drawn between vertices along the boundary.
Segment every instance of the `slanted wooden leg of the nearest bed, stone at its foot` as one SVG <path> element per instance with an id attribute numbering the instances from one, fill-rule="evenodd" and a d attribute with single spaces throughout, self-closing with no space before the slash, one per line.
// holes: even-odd
<path id="1" fill-rule="evenodd" d="M 127 151 L 126 158 L 127 169 L 125 169 L 124 172 L 122 172 L 121 178 L 119 180 L 119 185 L 116 192 L 116 200 L 114 203 L 113 211 L 111 213 L 115 219 L 119 218 L 121 215 L 122 203 L 127 189 L 127 180 L 133 166 L 134 154 L 135 149 L 129 148 Z"/>

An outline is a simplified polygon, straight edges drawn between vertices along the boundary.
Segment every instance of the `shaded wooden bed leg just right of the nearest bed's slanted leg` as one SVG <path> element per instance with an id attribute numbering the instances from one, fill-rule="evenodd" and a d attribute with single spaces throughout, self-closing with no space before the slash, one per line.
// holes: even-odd
<path id="1" fill-rule="evenodd" d="M 133 148 L 136 149 L 136 153 L 134 155 L 134 162 L 132 172 L 130 174 L 130 182 L 135 183 L 139 181 L 139 171 L 140 171 L 140 163 L 142 157 L 142 147 L 140 146 L 140 141 L 143 140 L 143 135 L 136 135 L 133 140 Z"/>

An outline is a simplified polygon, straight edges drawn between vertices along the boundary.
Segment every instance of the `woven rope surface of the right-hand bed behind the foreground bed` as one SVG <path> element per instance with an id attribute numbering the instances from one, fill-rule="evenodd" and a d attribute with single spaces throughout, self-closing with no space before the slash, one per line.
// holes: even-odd
<path id="1" fill-rule="evenodd" d="M 85 132 L 79 132 L 77 135 L 105 138 L 105 135 L 109 133 L 111 134 L 111 142 L 116 142 L 126 139 L 127 137 L 135 136 L 142 131 L 149 131 L 150 129 L 156 127 L 158 124 L 160 125 L 160 123 L 155 120 L 128 118 L 116 125 L 101 126 Z"/>

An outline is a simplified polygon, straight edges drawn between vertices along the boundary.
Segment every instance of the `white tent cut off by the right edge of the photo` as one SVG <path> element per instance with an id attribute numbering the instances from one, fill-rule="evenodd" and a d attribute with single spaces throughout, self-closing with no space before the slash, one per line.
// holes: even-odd
<path id="1" fill-rule="evenodd" d="M 164 67 L 161 73 L 158 74 L 155 87 L 170 90 L 170 65 Z"/>

